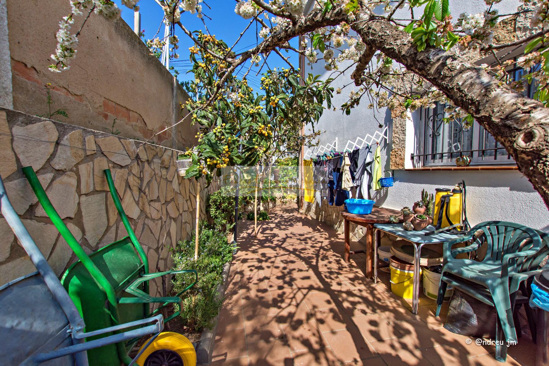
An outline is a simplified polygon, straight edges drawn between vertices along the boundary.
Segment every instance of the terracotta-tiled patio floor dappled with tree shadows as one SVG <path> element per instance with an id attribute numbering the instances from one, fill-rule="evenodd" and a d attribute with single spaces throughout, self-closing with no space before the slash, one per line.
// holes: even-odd
<path id="1" fill-rule="evenodd" d="M 239 222 L 212 365 L 534 366 L 524 317 L 518 345 L 497 362 L 495 346 L 467 344 L 442 328 L 433 300 L 422 294 L 414 315 L 391 292 L 388 274 L 374 284 L 361 271 L 365 257 L 345 263 L 343 235 L 295 205 L 277 205 L 258 226 L 254 238 L 253 221 Z"/>

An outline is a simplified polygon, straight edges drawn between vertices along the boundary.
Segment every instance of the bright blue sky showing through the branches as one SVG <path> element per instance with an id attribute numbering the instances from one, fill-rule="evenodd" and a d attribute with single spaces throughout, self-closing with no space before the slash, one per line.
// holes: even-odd
<path id="1" fill-rule="evenodd" d="M 122 5 L 120 0 L 115 0 L 115 3 L 120 9 L 122 9 L 122 19 L 124 19 L 133 29 L 133 10 Z M 209 16 L 211 20 L 204 16 L 204 24 L 202 20 L 196 16 L 196 14 L 183 13 L 181 15 L 182 24 L 191 32 L 195 30 L 202 30 L 206 33 L 206 27 L 208 27 L 210 33 L 214 34 L 217 39 L 222 39 L 229 45 L 229 47 L 232 46 L 232 44 L 238 39 L 240 32 L 242 32 L 248 25 L 249 20 L 243 19 L 241 16 L 234 13 L 234 5 L 236 4 L 234 1 L 209 0 L 206 1 L 206 3 L 210 5 L 211 9 L 208 9 L 205 3 L 202 3 L 203 13 Z M 141 29 L 145 30 L 145 38 L 153 38 L 161 26 L 164 12 L 154 0 L 141 0 L 138 5 L 140 8 L 139 13 L 141 13 Z M 250 28 L 244 33 L 242 39 L 238 42 L 237 46 L 234 47 L 234 50 L 236 50 L 237 53 L 242 52 L 243 50 L 254 47 L 256 42 L 261 42 L 261 38 L 259 37 L 256 40 L 256 34 L 257 32 L 255 25 L 250 26 Z M 171 60 L 170 65 L 175 66 L 177 71 L 180 72 L 178 80 L 192 80 L 194 78 L 193 74 L 186 74 L 186 72 L 191 69 L 191 61 L 189 61 L 189 47 L 193 46 L 194 42 L 178 27 L 176 27 L 176 35 L 180 39 L 178 49 L 180 57 L 178 60 L 175 60 L 175 62 Z M 160 27 L 160 32 L 156 37 L 161 38 L 163 36 L 164 25 Z M 290 41 L 290 44 L 297 48 L 297 38 Z M 285 57 L 289 57 L 290 62 L 292 62 L 296 69 L 299 67 L 298 55 L 296 53 L 290 51 L 288 54 L 283 54 Z M 267 64 L 269 67 L 264 66 L 261 72 L 266 71 L 268 68 L 288 67 L 288 64 L 275 53 L 272 53 L 267 59 Z M 247 61 L 242 70 L 237 69 L 238 75 L 244 75 L 249 66 L 250 61 Z M 260 92 L 259 80 L 261 79 L 261 74 L 256 75 L 259 69 L 260 67 L 253 66 L 247 77 L 249 84 L 257 92 Z"/>

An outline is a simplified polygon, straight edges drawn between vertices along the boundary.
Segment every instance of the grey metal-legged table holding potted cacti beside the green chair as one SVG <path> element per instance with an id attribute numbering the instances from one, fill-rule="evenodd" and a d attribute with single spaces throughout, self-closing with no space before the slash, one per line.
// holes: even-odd
<path id="1" fill-rule="evenodd" d="M 429 225 L 421 231 L 411 230 L 408 231 L 402 224 L 374 224 L 376 232 L 378 230 L 394 235 L 399 239 L 410 241 L 414 250 L 414 262 L 413 262 L 413 295 L 412 295 L 412 313 L 417 314 L 417 308 L 419 303 L 419 262 L 421 260 L 421 248 L 425 244 L 442 244 L 445 241 L 458 238 L 457 235 L 448 233 L 435 233 L 425 236 L 425 233 L 435 230 L 435 227 Z M 379 235 L 374 235 L 376 242 L 374 244 L 374 283 L 377 282 L 377 248 Z"/>

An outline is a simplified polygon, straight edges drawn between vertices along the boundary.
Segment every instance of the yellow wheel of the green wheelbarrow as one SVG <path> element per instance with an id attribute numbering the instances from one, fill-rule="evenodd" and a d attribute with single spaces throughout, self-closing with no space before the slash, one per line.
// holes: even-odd
<path id="1" fill-rule="evenodd" d="M 147 342 L 141 348 L 146 344 Z M 160 333 L 139 356 L 137 364 L 139 366 L 196 366 L 197 352 L 186 336 L 165 331 Z"/>

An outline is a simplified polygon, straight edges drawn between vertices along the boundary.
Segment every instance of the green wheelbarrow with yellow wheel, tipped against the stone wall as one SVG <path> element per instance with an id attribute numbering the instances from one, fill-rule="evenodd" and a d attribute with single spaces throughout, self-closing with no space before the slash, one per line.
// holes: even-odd
<path id="1" fill-rule="evenodd" d="M 108 328 L 109 326 L 133 322 L 159 314 L 170 303 L 181 309 L 180 295 L 197 283 L 198 274 L 194 269 L 148 273 L 149 263 L 143 247 L 137 240 L 130 222 L 122 209 L 120 198 L 114 187 L 110 170 L 105 170 L 111 197 L 116 206 L 128 236 L 110 243 L 96 252 L 87 255 L 57 211 L 49 201 L 46 192 L 38 181 L 32 167 L 24 167 L 23 172 L 40 201 L 44 211 L 79 261 L 67 269 L 61 283 L 86 323 L 86 331 Z M 153 297 L 149 295 L 149 281 L 165 275 L 194 273 L 194 281 L 175 296 Z M 160 304 L 153 312 L 151 304 Z M 180 312 L 172 314 L 164 321 L 169 322 Z M 88 340 L 93 340 L 89 337 Z M 94 366 L 118 366 L 132 363 L 128 353 L 139 339 L 118 342 L 87 351 L 89 363 Z M 169 362 L 169 363 L 167 363 Z M 164 332 L 152 341 L 137 358 L 139 366 L 170 364 L 173 366 L 194 366 L 196 353 L 192 343 L 181 334 Z"/>

